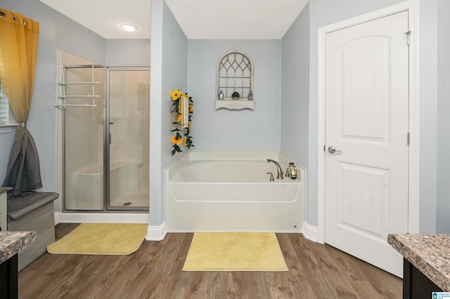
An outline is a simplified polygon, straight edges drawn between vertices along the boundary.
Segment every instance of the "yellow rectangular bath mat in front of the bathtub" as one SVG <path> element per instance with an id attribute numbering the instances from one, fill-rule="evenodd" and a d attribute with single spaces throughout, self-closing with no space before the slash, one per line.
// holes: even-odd
<path id="1" fill-rule="evenodd" d="M 195 232 L 184 271 L 288 271 L 274 232 Z"/>

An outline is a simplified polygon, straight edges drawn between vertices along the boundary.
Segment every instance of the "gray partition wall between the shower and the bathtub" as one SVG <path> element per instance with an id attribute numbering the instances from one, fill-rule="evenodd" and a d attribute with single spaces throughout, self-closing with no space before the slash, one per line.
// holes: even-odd
<path id="1" fill-rule="evenodd" d="M 150 77 L 150 225 L 165 220 L 164 168 L 171 156 L 170 91 L 187 88 L 188 40 L 163 0 L 152 2 Z"/>

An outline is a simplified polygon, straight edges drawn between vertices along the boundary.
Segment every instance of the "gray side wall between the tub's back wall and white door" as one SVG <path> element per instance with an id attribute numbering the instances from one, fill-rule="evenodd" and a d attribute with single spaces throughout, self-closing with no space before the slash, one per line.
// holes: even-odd
<path id="1" fill-rule="evenodd" d="M 282 39 L 281 151 L 308 168 L 309 4 Z"/>

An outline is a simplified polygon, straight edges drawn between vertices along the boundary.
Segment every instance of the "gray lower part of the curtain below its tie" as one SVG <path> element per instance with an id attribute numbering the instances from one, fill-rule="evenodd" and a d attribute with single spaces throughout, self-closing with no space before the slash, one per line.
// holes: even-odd
<path id="1" fill-rule="evenodd" d="M 13 190 L 8 191 L 8 194 L 13 195 L 42 187 L 37 148 L 26 127 L 15 129 L 3 186 L 13 187 Z"/>

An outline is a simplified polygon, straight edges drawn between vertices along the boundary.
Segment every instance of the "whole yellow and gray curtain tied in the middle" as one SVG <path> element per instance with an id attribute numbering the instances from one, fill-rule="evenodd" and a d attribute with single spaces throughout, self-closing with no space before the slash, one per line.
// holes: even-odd
<path id="1" fill-rule="evenodd" d="M 4 186 L 18 195 L 42 187 L 39 157 L 25 126 L 30 113 L 37 60 L 39 23 L 0 8 L 0 80 L 15 119 L 15 130 Z"/>

